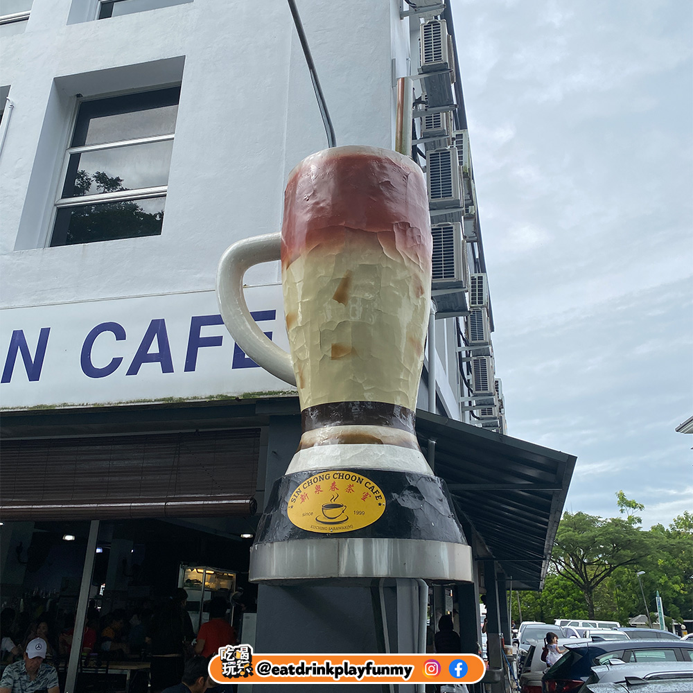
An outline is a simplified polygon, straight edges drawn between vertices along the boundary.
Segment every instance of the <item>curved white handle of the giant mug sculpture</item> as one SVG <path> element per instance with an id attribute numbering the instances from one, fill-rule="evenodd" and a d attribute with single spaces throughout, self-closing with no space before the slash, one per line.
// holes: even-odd
<path id="1" fill-rule="evenodd" d="M 280 251 L 281 234 L 244 238 L 230 245 L 219 261 L 216 293 L 221 317 L 236 344 L 273 376 L 296 385 L 291 356 L 258 327 L 243 294 L 243 276 L 249 267 L 279 260 Z"/>

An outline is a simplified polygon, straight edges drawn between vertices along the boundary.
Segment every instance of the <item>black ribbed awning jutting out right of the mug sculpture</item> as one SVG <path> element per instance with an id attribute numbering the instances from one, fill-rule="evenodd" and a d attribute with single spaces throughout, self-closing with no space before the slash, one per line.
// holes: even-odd
<path id="1" fill-rule="evenodd" d="M 513 588 L 540 589 L 577 457 L 423 411 L 416 435 Z"/>

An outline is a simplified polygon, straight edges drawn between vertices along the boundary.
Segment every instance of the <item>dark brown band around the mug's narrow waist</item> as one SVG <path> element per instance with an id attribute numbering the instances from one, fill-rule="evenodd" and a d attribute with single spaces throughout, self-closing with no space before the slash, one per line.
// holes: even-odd
<path id="1" fill-rule="evenodd" d="M 386 402 L 328 402 L 301 412 L 304 432 L 325 426 L 390 426 L 414 434 L 416 414 Z"/>

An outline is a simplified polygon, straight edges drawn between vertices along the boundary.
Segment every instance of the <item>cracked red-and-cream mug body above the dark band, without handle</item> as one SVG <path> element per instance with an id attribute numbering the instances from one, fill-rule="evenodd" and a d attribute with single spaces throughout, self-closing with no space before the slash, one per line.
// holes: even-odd
<path id="1" fill-rule="evenodd" d="M 416 408 L 431 250 L 426 183 L 410 159 L 347 147 L 292 172 L 282 284 L 302 410 L 349 401 Z"/>

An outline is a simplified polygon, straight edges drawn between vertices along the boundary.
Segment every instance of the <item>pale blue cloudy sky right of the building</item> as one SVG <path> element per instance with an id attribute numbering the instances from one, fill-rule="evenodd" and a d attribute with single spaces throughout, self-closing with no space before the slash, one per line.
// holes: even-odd
<path id="1" fill-rule="evenodd" d="M 693 507 L 693 3 L 451 0 L 509 435 Z"/>

